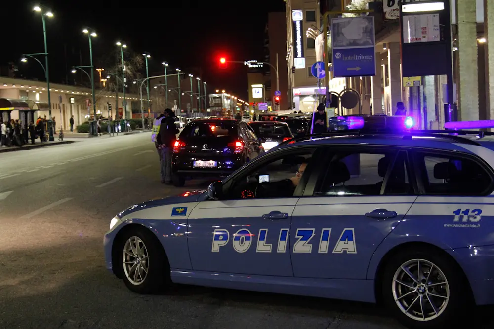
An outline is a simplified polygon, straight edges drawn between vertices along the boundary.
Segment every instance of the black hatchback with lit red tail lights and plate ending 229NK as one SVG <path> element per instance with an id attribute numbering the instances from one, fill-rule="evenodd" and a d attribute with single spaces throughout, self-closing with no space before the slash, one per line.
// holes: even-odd
<path id="1" fill-rule="evenodd" d="M 262 142 L 242 121 L 192 121 L 184 127 L 173 147 L 173 184 L 183 186 L 187 177 L 228 175 L 263 153 Z"/>

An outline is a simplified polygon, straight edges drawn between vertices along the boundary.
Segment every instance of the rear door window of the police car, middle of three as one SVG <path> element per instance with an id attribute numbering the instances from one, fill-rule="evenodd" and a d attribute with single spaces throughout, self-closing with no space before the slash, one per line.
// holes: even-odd
<path id="1" fill-rule="evenodd" d="M 395 151 L 348 152 L 330 155 L 323 179 L 314 189 L 315 196 L 381 195 L 412 193 L 406 168 L 406 153 Z"/>

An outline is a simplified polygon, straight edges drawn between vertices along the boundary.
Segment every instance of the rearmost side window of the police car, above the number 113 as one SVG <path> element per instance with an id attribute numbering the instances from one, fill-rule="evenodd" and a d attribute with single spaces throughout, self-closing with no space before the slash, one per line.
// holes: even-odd
<path id="1" fill-rule="evenodd" d="M 425 194 L 485 195 L 490 193 L 492 176 L 483 165 L 456 155 L 415 153 L 415 161 Z"/>

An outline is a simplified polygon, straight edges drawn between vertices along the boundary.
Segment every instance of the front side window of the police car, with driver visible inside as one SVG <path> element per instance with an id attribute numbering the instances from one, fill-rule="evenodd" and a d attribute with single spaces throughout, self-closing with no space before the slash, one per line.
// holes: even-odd
<path id="1" fill-rule="evenodd" d="M 313 152 L 307 149 L 262 161 L 235 178 L 225 195 L 231 200 L 292 197 L 312 166 Z"/>

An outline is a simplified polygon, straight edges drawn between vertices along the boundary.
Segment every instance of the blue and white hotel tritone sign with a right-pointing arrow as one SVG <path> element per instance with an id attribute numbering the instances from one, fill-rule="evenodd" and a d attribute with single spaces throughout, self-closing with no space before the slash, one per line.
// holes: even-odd
<path id="1" fill-rule="evenodd" d="M 375 75 L 374 17 L 331 21 L 334 77 Z"/>

